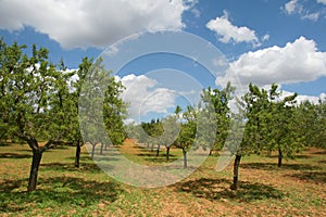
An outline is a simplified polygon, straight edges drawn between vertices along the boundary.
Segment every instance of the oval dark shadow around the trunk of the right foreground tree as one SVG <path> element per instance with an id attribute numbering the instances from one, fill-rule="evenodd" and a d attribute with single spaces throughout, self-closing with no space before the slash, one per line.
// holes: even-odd
<path id="1" fill-rule="evenodd" d="M 226 179 L 201 178 L 190 180 L 177 186 L 177 190 L 192 193 L 196 197 L 204 197 L 210 201 L 231 200 L 238 202 L 252 202 L 259 200 L 285 197 L 283 191 L 263 183 L 240 182 L 237 191 L 229 189 L 230 181 Z"/>

